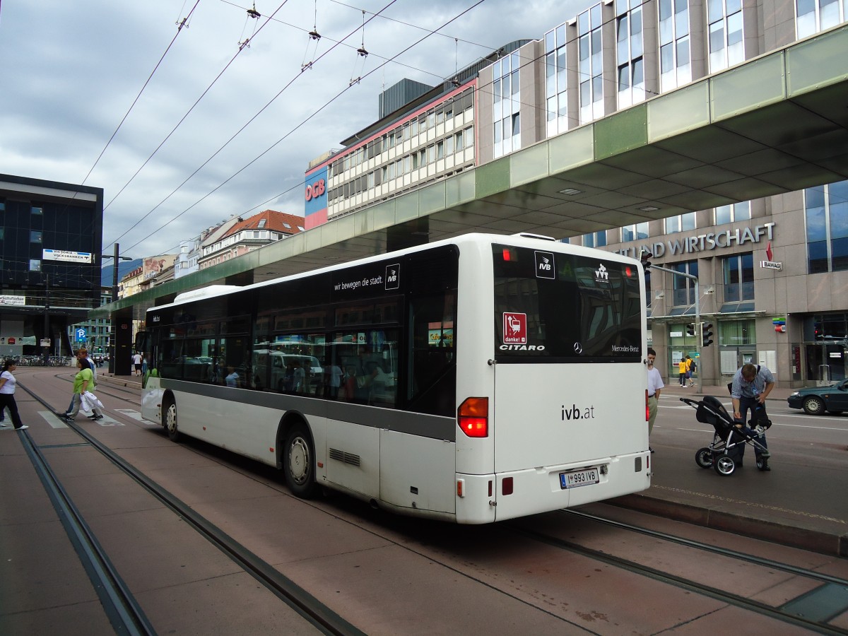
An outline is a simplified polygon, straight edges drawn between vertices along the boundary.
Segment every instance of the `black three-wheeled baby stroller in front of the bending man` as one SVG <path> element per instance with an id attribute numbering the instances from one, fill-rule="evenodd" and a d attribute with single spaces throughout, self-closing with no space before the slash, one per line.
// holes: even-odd
<path id="1" fill-rule="evenodd" d="M 695 409 L 696 420 L 711 424 L 716 429 L 711 444 L 695 453 L 698 466 L 712 466 L 724 477 L 733 475 L 736 468 L 742 466 L 745 444 L 750 444 L 756 453 L 756 467 L 761 471 L 771 470 L 768 467 L 770 455 L 765 443 L 765 432 L 772 426 L 772 421 L 768 419 L 765 407 L 757 407 L 750 428 L 737 428 L 735 424 L 739 422 L 735 422 L 723 404 L 711 395 L 705 395 L 700 401 L 689 398 L 681 398 L 680 401 Z"/>

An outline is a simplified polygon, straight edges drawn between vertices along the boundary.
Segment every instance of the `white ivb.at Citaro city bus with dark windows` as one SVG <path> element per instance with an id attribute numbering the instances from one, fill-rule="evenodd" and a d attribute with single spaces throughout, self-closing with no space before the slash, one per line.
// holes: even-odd
<path id="1" fill-rule="evenodd" d="M 469 234 L 181 294 L 147 325 L 142 415 L 300 497 L 488 523 L 650 486 L 634 259 Z"/>

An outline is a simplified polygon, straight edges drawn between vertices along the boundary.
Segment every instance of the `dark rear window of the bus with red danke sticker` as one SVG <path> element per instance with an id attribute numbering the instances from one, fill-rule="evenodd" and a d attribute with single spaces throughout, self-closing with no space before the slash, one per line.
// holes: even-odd
<path id="1" fill-rule="evenodd" d="M 499 362 L 641 360 L 638 270 L 614 260 L 493 246 Z"/>

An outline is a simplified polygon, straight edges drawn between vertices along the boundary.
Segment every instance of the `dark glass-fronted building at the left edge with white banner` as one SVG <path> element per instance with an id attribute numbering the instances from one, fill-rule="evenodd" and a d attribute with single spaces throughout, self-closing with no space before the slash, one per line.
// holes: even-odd
<path id="1" fill-rule="evenodd" d="M 0 175 L 0 216 L 0 355 L 68 355 L 100 304 L 103 189 Z"/>

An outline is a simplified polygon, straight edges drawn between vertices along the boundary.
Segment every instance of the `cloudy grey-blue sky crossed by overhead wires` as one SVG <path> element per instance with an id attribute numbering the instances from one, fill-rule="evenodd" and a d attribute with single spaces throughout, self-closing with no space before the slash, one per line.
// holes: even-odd
<path id="1" fill-rule="evenodd" d="M 102 187 L 103 250 L 133 257 L 303 215 L 308 162 L 377 120 L 382 87 L 437 84 L 586 4 L 257 0 L 253 19 L 253 0 L 4 0 L 0 173 Z"/>

